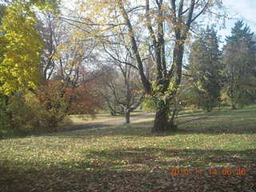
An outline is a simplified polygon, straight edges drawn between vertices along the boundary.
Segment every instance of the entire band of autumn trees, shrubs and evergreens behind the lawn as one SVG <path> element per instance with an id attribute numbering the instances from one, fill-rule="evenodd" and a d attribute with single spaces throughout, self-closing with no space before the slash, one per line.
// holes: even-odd
<path id="1" fill-rule="evenodd" d="M 162 132 L 177 127 L 182 107 L 255 101 L 250 27 L 236 22 L 222 49 L 214 27 L 191 33 L 220 0 L 78 1 L 70 11 L 54 0 L 3 2 L 2 134 L 55 131 L 69 114 L 102 111 L 129 123 L 139 106 L 155 112 L 152 131 Z"/>

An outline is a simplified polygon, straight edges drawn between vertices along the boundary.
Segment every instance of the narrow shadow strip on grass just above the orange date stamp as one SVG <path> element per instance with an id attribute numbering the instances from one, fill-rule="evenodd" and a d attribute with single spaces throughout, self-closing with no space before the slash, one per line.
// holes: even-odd
<path id="1" fill-rule="evenodd" d="M 87 157 L 102 159 L 106 166 L 117 167 L 120 164 L 143 166 L 192 166 L 211 165 L 248 166 L 255 163 L 255 150 L 194 150 L 162 149 L 156 147 L 128 148 L 122 150 L 102 150 L 85 153 Z M 120 163 L 121 162 L 121 163 Z"/>

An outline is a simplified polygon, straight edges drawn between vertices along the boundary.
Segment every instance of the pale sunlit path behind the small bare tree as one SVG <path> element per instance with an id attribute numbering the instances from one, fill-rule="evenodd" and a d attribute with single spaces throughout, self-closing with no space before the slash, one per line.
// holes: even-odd
<path id="1" fill-rule="evenodd" d="M 130 115 L 130 122 L 138 122 L 140 119 L 144 119 L 145 121 L 149 121 L 150 117 L 154 117 L 154 114 L 133 114 Z M 111 120 L 106 120 L 106 121 L 101 121 L 101 122 L 83 122 L 79 123 L 73 126 L 68 126 L 65 128 L 65 130 L 86 130 L 86 129 L 92 129 L 92 128 L 97 128 L 101 126 L 120 126 L 126 122 L 125 117 L 123 118 L 117 118 L 117 119 L 111 119 Z M 142 121 L 139 121 L 142 122 Z"/>

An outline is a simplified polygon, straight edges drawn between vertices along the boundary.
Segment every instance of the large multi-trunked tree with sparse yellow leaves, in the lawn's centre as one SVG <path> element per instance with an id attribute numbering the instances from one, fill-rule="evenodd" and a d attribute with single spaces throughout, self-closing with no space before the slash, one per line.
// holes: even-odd
<path id="1" fill-rule="evenodd" d="M 157 111 L 152 131 L 171 130 L 170 103 L 178 91 L 182 78 L 184 45 L 190 38 L 191 26 L 200 15 L 222 1 L 213 0 L 106 0 L 88 2 L 79 22 L 91 26 L 95 38 L 113 35 L 118 27 L 126 35 L 126 44 L 133 50 L 138 72 L 146 94 L 154 99 Z M 87 10 L 90 10 L 88 12 Z M 98 33 L 97 33 L 98 32 Z M 156 66 L 153 82 L 146 77 L 144 64 L 149 47 Z M 170 52 L 172 56 L 170 57 Z"/>

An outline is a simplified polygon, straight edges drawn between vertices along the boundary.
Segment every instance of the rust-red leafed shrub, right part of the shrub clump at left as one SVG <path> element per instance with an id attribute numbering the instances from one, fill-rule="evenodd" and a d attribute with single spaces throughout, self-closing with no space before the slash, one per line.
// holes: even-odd
<path id="1" fill-rule="evenodd" d="M 94 116 L 102 108 L 102 98 L 90 84 L 69 87 L 61 81 L 49 81 L 40 86 L 37 97 L 44 109 L 42 116 L 50 127 L 57 127 L 68 114 Z"/>

